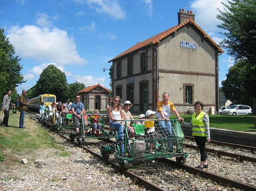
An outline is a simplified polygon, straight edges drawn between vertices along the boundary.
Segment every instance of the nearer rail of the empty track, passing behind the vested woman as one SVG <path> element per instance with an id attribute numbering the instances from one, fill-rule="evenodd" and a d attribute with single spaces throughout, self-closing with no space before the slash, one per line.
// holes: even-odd
<path id="1" fill-rule="evenodd" d="M 192 148 L 192 149 L 198 150 L 198 146 L 197 145 L 183 143 L 183 147 L 184 148 Z M 254 157 L 248 157 L 248 156 L 244 156 L 244 155 L 241 155 L 241 154 L 235 154 L 235 153 L 219 151 L 219 150 L 209 149 L 209 148 L 205 148 L 205 151 L 206 152 L 210 152 L 210 153 L 214 153 L 215 157 L 219 157 L 220 155 L 223 155 L 223 156 L 226 156 L 226 157 L 235 158 L 236 162 L 242 162 L 243 160 L 246 160 L 246 161 L 249 161 L 249 162 L 256 163 L 256 158 L 254 158 Z"/>

